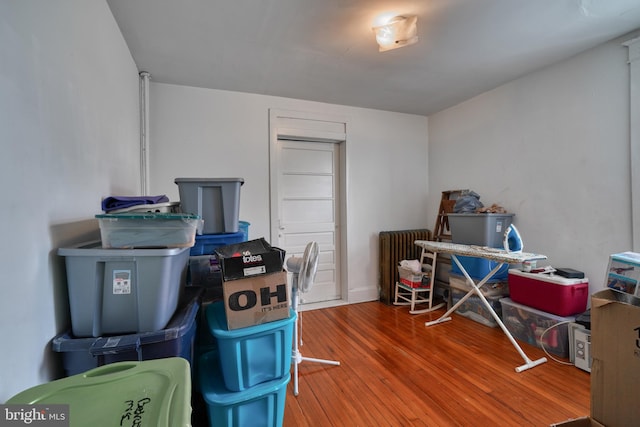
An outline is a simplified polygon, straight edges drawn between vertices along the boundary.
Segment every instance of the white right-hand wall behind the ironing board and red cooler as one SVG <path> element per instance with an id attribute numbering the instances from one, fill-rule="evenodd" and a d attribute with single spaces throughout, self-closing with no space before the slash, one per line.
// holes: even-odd
<path id="1" fill-rule="evenodd" d="M 621 40 L 431 116 L 429 223 L 442 190 L 475 190 L 516 214 L 525 251 L 603 288 L 609 254 L 631 249 Z"/>

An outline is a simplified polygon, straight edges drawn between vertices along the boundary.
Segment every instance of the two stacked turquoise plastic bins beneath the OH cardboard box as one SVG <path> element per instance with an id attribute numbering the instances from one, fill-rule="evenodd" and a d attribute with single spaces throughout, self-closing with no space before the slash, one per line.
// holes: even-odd
<path id="1" fill-rule="evenodd" d="M 224 303 L 205 310 L 215 343 L 198 360 L 198 385 L 210 426 L 281 426 L 290 380 L 296 314 L 228 330 Z"/>

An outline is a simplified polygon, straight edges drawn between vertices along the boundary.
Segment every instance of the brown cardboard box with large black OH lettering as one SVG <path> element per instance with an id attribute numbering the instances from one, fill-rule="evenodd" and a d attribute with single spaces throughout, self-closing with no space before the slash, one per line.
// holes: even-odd
<path id="1" fill-rule="evenodd" d="M 229 330 L 260 325 L 289 317 L 287 272 L 260 274 L 222 281 Z"/>

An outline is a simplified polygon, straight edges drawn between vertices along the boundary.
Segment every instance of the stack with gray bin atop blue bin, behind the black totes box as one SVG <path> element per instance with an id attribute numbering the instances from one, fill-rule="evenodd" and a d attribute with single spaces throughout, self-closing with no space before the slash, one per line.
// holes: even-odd
<path id="1" fill-rule="evenodd" d="M 240 221 L 242 178 L 176 178 L 183 212 L 192 212 L 204 222 L 195 237 L 189 259 L 190 285 L 205 288 L 205 301 L 222 298 L 220 265 L 215 256 L 219 247 L 246 242 L 249 223 Z"/>

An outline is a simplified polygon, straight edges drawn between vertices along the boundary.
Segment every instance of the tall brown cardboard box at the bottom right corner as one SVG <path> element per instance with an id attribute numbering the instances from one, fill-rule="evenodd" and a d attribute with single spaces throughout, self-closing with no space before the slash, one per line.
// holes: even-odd
<path id="1" fill-rule="evenodd" d="M 640 298 L 606 289 L 591 296 L 591 418 L 640 423 Z"/>

